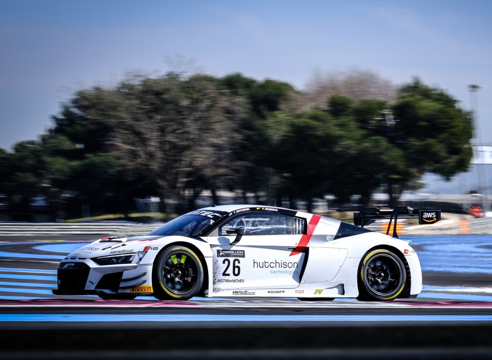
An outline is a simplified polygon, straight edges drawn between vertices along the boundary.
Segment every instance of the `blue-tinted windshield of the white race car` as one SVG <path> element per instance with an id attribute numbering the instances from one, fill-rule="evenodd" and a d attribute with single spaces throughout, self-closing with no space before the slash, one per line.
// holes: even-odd
<path id="1" fill-rule="evenodd" d="M 169 236 L 196 236 L 214 221 L 206 216 L 201 215 L 183 215 L 161 227 L 149 232 L 147 235 Z"/>

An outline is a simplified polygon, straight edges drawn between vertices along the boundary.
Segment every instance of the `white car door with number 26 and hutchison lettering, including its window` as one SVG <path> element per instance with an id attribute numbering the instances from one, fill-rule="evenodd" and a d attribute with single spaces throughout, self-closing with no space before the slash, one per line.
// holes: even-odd
<path id="1" fill-rule="evenodd" d="M 245 229 L 236 235 L 227 229 Z M 237 214 L 208 236 L 214 263 L 214 290 L 288 289 L 299 286 L 306 254 L 293 251 L 305 231 L 305 220 L 277 210 Z"/>

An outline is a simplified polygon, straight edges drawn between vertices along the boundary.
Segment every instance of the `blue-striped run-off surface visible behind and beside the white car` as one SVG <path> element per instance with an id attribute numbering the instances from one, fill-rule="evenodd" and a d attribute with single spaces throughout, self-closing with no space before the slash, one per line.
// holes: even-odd
<path id="1" fill-rule="evenodd" d="M 417 251 L 424 278 L 424 289 L 418 299 L 492 301 L 492 235 L 402 236 L 412 240 Z M 0 243 L 2 258 L 35 262 L 52 260 L 48 268 L 0 268 L 0 299 L 21 300 L 57 297 L 51 294 L 56 287 L 57 261 L 89 242 L 22 242 L 31 251 L 16 252 L 12 242 Z M 8 245 L 8 248 L 5 247 Z M 12 246 L 14 245 L 14 246 Z M 26 246 L 19 246 L 27 249 Z M 59 298 L 67 298 L 58 296 Z M 98 298 L 87 296 L 87 298 Z M 153 297 L 137 297 L 151 300 Z M 193 298 L 200 300 L 201 298 Z M 337 300 L 336 300 L 337 301 Z M 341 301 L 341 300 L 338 300 Z M 345 300 L 346 301 L 346 300 Z"/>

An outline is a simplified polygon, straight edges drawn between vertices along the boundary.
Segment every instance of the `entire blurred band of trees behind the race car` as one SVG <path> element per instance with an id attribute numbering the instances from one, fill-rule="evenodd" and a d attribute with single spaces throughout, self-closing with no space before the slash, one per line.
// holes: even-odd
<path id="1" fill-rule="evenodd" d="M 309 209 L 313 197 L 327 194 L 369 203 L 380 187 L 395 205 L 425 172 L 450 179 L 466 171 L 472 120 L 455 99 L 418 79 L 392 97 L 387 82 L 359 75 L 361 87 L 377 81 L 366 91 L 353 73 L 318 83 L 331 89 L 323 106 L 294 106 L 312 94 L 239 73 L 168 73 L 80 90 L 47 134 L 12 153 L 0 149 L 0 193 L 19 208 L 45 196 L 54 218 L 62 202 L 78 204 L 67 205 L 72 216 L 80 204 L 126 214 L 132 197 L 150 195 L 173 214 L 186 210 L 179 204 L 193 208 L 204 189 L 215 203 L 219 189 L 268 201 L 272 173 L 272 196 L 290 206 L 304 200 Z"/>

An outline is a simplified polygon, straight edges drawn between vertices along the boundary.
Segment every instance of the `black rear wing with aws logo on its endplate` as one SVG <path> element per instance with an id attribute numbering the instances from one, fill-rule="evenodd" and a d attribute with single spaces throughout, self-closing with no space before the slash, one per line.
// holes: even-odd
<path id="1" fill-rule="evenodd" d="M 398 219 L 419 219 L 419 225 L 433 224 L 441 220 L 441 210 L 414 210 L 408 206 L 397 206 L 394 209 L 379 209 L 377 207 L 365 207 L 360 212 L 354 213 L 354 224 L 365 227 L 379 219 L 389 219 L 386 235 L 389 235 L 393 220 L 393 237 L 398 238 Z"/>

